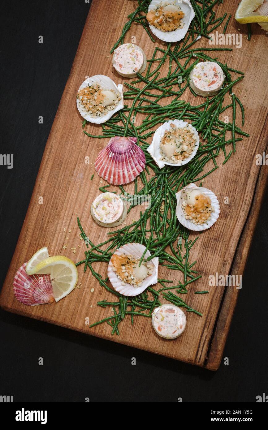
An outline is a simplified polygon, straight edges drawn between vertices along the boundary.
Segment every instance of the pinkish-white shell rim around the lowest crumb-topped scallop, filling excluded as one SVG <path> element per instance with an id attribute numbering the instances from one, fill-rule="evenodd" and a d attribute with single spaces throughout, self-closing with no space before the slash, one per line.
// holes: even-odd
<path id="1" fill-rule="evenodd" d="M 145 246 L 140 243 L 127 243 L 126 245 L 120 246 L 114 254 L 121 255 L 133 255 L 136 258 L 141 258 L 143 252 L 145 251 Z M 151 253 L 149 251 L 146 251 L 144 259 L 150 257 Z M 143 283 L 139 287 L 134 287 L 128 283 L 125 283 L 125 285 L 122 285 L 122 281 L 118 278 L 116 273 L 112 270 L 112 263 L 111 260 L 108 264 L 108 278 L 110 279 L 110 282 L 112 286 L 114 287 L 115 291 L 119 292 L 120 294 L 126 295 L 126 296 L 136 296 L 141 294 L 148 286 L 156 284 L 157 283 L 157 274 L 158 274 L 158 257 L 152 258 L 151 262 L 154 264 L 154 271 L 153 273 L 144 279 Z"/>

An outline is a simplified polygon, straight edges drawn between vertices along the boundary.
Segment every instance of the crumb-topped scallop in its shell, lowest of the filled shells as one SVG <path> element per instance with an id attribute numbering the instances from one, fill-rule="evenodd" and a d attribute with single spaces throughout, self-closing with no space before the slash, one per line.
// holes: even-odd
<path id="1" fill-rule="evenodd" d="M 151 253 L 146 251 L 142 264 L 139 267 L 139 260 L 145 249 L 145 246 L 140 243 L 127 243 L 126 245 L 120 246 L 120 248 L 114 252 L 108 264 L 108 278 L 115 291 L 132 297 L 141 294 L 148 286 L 157 283 L 158 257 L 154 257 L 146 262 L 146 258 L 151 256 Z M 120 271 L 118 272 L 118 266 L 120 266 L 120 270 L 122 270 L 123 273 Z M 126 273 L 127 270 L 129 270 L 129 272 Z M 117 273 L 121 274 L 121 279 L 119 277 L 120 274 L 118 276 Z M 146 273 L 148 276 L 146 276 Z M 125 282 L 122 279 L 123 276 L 126 275 L 128 275 L 129 279 L 130 276 L 136 277 L 140 282 L 136 285 L 135 279 L 134 281 L 131 279 L 132 284 L 130 281 Z"/>

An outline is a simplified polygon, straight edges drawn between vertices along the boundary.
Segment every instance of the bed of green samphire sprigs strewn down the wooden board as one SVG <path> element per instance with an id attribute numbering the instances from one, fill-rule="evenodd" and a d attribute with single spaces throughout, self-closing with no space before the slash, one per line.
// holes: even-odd
<path id="1" fill-rule="evenodd" d="M 142 25 L 154 41 L 145 19 L 149 3 L 150 1 L 138 0 L 137 9 L 128 16 L 129 21 L 124 25 L 122 34 L 111 49 L 111 53 L 120 43 L 124 43 L 124 38 L 133 23 Z M 129 100 L 130 105 L 125 105 L 121 111 L 102 124 L 102 134 L 88 133 L 85 129 L 87 122 L 83 121 L 83 132 L 89 137 L 111 138 L 116 135 L 138 138 L 137 143 L 145 151 L 146 165 L 145 171 L 134 181 L 134 194 L 150 194 L 152 202 L 151 206 L 145 207 L 145 210 L 140 212 L 137 221 L 120 227 L 116 231 L 108 232 L 107 240 L 98 245 L 94 245 L 86 236 L 77 218 L 81 237 L 87 246 L 85 258 L 79 261 L 77 266 L 84 264 L 84 271 L 89 269 L 99 284 L 116 296 L 114 301 L 98 302 L 101 307 L 111 307 L 113 315 L 94 322 L 91 326 L 107 322 L 111 326 L 112 334 L 119 335 L 119 323 L 126 315 L 130 316 L 131 324 L 135 316 L 150 317 L 154 308 L 161 304 L 162 298 L 184 307 L 188 312 L 201 315 L 179 297 L 179 294 L 187 294 L 188 286 L 200 279 L 201 275 L 194 270 L 196 261 L 191 262 L 190 259 L 191 248 L 198 237 L 191 240 L 188 230 L 179 224 L 176 218 L 176 192 L 190 182 L 200 182 L 202 186 L 203 179 L 219 168 L 217 163 L 219 154 L 221 152 L 224 154 L 222 164 L 227 163 L 236 151 L 237 142 L 242 140 L 242 136 L 249 136 L 235 122 L 238 107 L 242 116 L 242 126 L 244 124 L 243 104 L 233 91 L 235 84 L 243 79 L 243 72 L 208 55 L 223 50 L 231 51 L 231 49 L 193 47 L 200 37 L 209 38 L 208 34 L 227 18 L 226 13 L 216 18 L 216 12 L 213 9 L 219 3 L 222 3 L 222 0 L 191 1 L 196 15 L 185 38 L 176 44 L 167 43 L 166 49 L 157 46 L 152 58 L 148 59 L 147 71 L 142 75 L 138 74 L 135 80 L 124 83 L 127 88 L 124 92 L 124 100 Z M 230 18 L 231 15 L 225 21 L 224 32 Z M 165 70 L 163 65 L 167 61 L 168 71 L 163 75 Z M 225 74 L 225 82 L 217 95 L 204 99 L 201 104 L 191 105 L 182 99 L 182 95 L 185 91 L 192 92 L 189 86 L 189 75 L 194 65 L 200 61 L 216 61 Z M 232 74 L 235 74 L 234 80 Z M 193 95 L 196 96 L 194 93 Z M 171 98 L 168 104 L 165 103 L 167 97 L 169 100 Z M 221 117 L 228 113 L 228 110 L 232 112 L 231 121 L 222 121 Z M 135 121 L 138 116 L 142 118 L 139 125 Z M 159 169 L 146 151 L 149 146 L 148 140 L 154 134 L 155 127 L 175 118 L 188 121 L 197 129 L 200 135 L 200 146 L 194 159 L 185 166 L 179 168 L 165 166 Z M 211 164 L 209 171 L 207 171 L 208 163 Z M 109 187 L 110 185 L 105 185 L 99 190 L 105 192 Z M 117 194 L 123 194 L 124 197 L 127 196 L 129 202 L 132 201 L 133 196 L 126 193 L 123 186 L 118 187 Z M 133 207 L 130 204 L 128 212 Z M 109 286 L 108 279 L 103 279 L 94 270 L 94 263 L 107 264 L 115 249 L 130 242 L 142 243 L 150 251 L 151 258 L 158 257 L 162 266 L 181 272 L 183 280 L 179 281 L 178 285 L 173 285 L 172 280 L 158 279 L 160 289 L 148 287 L 145 292 L 136 297 L 125 297 L 114 291 Z M 196 293 L 205 294 L 207 291 Z"/>

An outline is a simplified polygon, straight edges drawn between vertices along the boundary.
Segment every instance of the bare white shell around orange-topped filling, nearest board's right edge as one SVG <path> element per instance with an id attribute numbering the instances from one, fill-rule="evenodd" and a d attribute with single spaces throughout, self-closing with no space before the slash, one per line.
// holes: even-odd
<path id="1" fill-rule="evenodd" d="M 201 193 L 205 194 L 206 196 L 208 196 L 210 198 L 211 205 L 213 206 L 215 212 L 211 213 L 210 220 L 208 221 L 207 224 L 203 224 L 203 225 L 194 224 L 189 219 L 185 219 L 185 215 L 184 215 L 184 212 L 183 212 L 182 206 L 181 206 L 181 197 L 182 197 L 182 191 L 187 190 L 188 188 L 194 188 L 194 189 L 197 188 L 198 190 L 200 190 Z M 182 188 L 182 190 L 180 190 L 178 193 L 176 193 L 176 198 L 177 198 L 177 206 L 176 206 L 177 218 L 178 218 L 179 222 L 182 225 L 184 225 L 184 227 L 188 228 L 189 230 L 194 230 L 194 231 L 206 230 L 206 229 L 210 228 L 213 224 L 215 224 L 215 222 L 219 218 L 219 213 L 220 213 L 219 200 L 217 199 L 217 197 L 213 193 L 213 191 L 208 190 L 207 188 L 197 187 L 195 184 L 191 183 L 191 184 L 188 184 L 186 187 Z"/>

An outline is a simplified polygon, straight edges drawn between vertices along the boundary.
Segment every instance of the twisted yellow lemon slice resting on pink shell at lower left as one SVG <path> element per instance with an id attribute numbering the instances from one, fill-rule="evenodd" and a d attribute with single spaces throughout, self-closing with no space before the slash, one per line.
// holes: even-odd
<path id="1" fill-rule="evenodd" d="M 32 267 L 28 272 L 34 274 L 50 274 L 55 301 L 69 294 L 77 284 L 77 268 L 70 258 L 62 255 L 46 258 Z"/>

